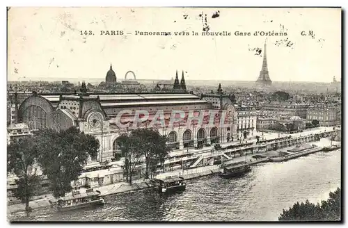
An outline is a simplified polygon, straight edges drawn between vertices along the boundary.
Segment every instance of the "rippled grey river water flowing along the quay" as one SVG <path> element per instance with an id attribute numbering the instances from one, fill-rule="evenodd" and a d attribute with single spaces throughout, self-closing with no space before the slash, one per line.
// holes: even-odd
<path id="1" fill-rule="evenodd" d="M 274 221 L 297 201 L 327 199 L 330 190 L 340 187 L 340 169 L 340 149 L 317 152 L 283 163 L 260 163 L 238 179 L 192 179 L 182 193 L 160 195 L 146 189 L 105 197 L 105 205 L 96 209 L 58 213 L 45 208 L 29 218 L 15 213 L 10 220 Z"/>

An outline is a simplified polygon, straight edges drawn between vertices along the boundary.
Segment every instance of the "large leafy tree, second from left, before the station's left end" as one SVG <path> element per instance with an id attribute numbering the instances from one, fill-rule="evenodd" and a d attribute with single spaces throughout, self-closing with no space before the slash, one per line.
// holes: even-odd
<path id="1" fill-rule="evenodd" d="M 38 161 L 51 182 L 54 197 L 62 197 L 72 190 L 71 182 L 79 178 L 88 156 L 95 157 L 100 147 L 96 138 L 80 133 L 76 127 L 59 132 L 39 131 L 35 141 L 40 151 Z"/>

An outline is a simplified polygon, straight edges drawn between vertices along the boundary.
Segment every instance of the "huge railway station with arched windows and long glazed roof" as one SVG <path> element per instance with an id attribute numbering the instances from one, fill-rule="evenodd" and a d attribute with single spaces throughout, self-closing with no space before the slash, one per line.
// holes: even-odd
<path id="1" fill-rule="evenodd" d="M 168 145 L 172 149 L 204 147 L 212 143 L 237 140 L 237 116 L 234 99 L 230 95 L 209 95 L 209 101 L 188 92 L 161 92 L 141 94 L 92 94 L 86 92 L 83 83 L 79 94 L 36 94 L 25 99 L 18 108 L 18 120 L 28 124 L 29 129 L 68 129 L 76 126 L 80 131 L 95 136 L 100 141 L 100 152 L 93 161 L 108 161 L 114 153 L 120 152 L 118 137 L 134 127 L 148 127 L 157 111 L 164 111 L 165 122 L 168 122 L 171 111 L 180 110 L 185 114 L 190 111 L 199 113 L 201 110 L 226 110 L 225 124 L 186 124 L 176 123 L 173 127 L 156 125 L 159 133 L 168 136 Z M 212 102 L 216 99 L 216 102 Z M 221 101 L 219 106 L 214 106 Z M 124 110 L 133 111 L 132 115 L 122 115 L 120 121 L 130 122 L 131 127 L 120 128 L 118 113 Z M 148 121 L 132 126 L 136 110 L 145 110 L 150 114 Z M 187 115 L 185 117 L 187 119 Z M 208 123 L 204 117 L 203 123 Z"/>

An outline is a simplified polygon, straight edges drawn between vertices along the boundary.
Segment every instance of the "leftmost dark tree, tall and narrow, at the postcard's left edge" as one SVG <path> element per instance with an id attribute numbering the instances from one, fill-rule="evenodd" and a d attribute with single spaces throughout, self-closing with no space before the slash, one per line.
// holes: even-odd
<path id="1" fill-rule="evenodd" d="M 33 168 L 35 160 L 38 157 L 38 149 L 32 138 L 24 138 L 7 147 L 8 166 L 7 171 L 17 175 L 17 189 L 14 195 L 25 203 L 25 210 L 30 211 L 29 200 L 34 195 L 35 186 L 40 178 Z"/>

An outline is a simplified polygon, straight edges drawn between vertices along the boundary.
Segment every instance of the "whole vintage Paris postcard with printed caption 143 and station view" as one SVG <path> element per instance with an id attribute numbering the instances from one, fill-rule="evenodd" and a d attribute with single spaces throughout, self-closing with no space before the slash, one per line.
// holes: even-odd
<path id="1" fill-rule="evenodd" d="M 341 221 L 341 17 L 8 7 L 8 220 Z"/>

